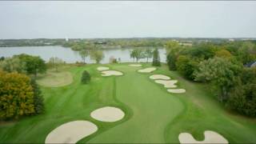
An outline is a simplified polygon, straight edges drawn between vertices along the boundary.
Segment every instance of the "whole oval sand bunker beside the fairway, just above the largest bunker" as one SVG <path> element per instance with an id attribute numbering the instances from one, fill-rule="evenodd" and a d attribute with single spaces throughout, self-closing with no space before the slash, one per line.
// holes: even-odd
<path id="1" fill-rule="evenodd" d="M 90 113 L 90 116 L 102 122 L 116 122 L 122 119 L 125 113 L 116 107 L 105 106 L 94 110 Z"/>

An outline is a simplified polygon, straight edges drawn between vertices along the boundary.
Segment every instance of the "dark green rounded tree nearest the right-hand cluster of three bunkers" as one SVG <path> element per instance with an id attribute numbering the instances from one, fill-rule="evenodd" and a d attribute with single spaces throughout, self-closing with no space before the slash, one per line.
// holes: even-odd
<path id="1" fill-rule="evenodd" d="M 177 62 L 176 62 L 177 70 L 179 73 L 185 76 L 190 80 L 194 80 L 194 70 L 197 69 L 198 62 L 194 59 L 186 56 L 186 55 L 179 55 Z"/>

